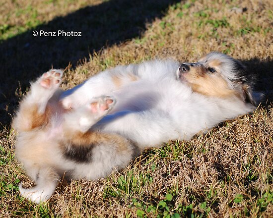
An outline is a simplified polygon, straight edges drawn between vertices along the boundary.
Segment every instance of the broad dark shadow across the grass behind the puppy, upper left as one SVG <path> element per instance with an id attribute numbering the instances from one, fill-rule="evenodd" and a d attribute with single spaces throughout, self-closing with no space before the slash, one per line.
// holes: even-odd
<path id="1" fill-rule="evenodd" d="M 38 33 L 40 30 L 80 31 L 81 37 L 34 37 L 32 29 L 3 41 L 0 44 L 0 123 L 4 126 L 10 123 L 8 113 L 13 114 L 18 104 L 15 92 L 19 86 L 24 92 L 30 80 L 52 66 L 65 68 L 69 62 L 75 66 L 79 59 L 105 45 L 140 37 L 147 23 L 164 16 L 168 6 L 176 2 L 180 0 L 109 0 L 57 17 L 35 29 Z"/>

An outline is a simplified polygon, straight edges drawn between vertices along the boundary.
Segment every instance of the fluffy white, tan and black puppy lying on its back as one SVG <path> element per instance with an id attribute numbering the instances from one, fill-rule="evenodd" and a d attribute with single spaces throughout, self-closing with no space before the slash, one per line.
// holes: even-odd
<path id="1" fill-rule="evenodd" d="M 36 203 L 50 198 L 64 173 L 107 176 L 147 147 L 190 140 L 252 112 L 258 100 L 245 67 L 219 53 L 180 66 L 171 60 L 117 66 L 66 92 L 59 89 L 62 74 L 50 70 L 32 83 L 14 119 L 16 157 L 36 182 L 20 185 L 20 193 Z"/>

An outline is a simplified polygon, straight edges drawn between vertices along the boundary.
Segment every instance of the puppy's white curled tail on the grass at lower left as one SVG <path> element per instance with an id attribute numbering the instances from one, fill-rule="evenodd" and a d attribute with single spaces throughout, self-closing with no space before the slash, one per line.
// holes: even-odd
<path id="1" fill-rule="evenodd" d="M 25 189 L 22 187 L 22 183 L 19 185 L 19 191 L 21 195 L 36 203 L 47 201 L 53 194 L 59 175 L 51 167 L 41 168 L 39 170 L 36 186 L 31 189 Z"/>

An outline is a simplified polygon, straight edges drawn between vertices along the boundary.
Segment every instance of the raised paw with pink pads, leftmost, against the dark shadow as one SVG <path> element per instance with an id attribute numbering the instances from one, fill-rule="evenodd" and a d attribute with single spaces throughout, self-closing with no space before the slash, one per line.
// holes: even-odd
<path id="1" fill-rule="evenodd" d="M 62 81 L 63 71 L 59 69 L 52 69 L 44 73 L 38 80 L 40 86 L 45 89 L 56 89 L 60 86 Z"/>

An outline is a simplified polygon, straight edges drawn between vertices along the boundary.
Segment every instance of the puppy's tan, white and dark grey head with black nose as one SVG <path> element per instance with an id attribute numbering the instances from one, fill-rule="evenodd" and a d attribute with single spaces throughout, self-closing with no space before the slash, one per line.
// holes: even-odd
<path id="1" fill-rule="evenodd" d="M 212 52 L 196 63 L 183 63 L 177 77 L 194 92 L 219 98 L 239 97 L 256 105 L 252 92 L 254 76 L 239 60 L 226 54 Z"/>

